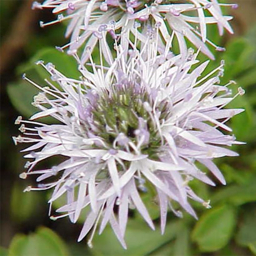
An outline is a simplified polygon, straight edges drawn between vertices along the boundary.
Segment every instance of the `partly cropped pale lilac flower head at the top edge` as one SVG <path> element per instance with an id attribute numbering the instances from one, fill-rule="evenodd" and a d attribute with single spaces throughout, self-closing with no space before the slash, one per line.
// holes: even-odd
<path id="1" fill-rule="evenodd" d="M 120 40 L 124 49 L 128 48 L 127 38 L 130 34 L 135 35 L 139 41 L 145 43 L 147 25 L 159 27 L 159 39 L 164 45 L 167 44 L 171 47 L 173 38 L 176 36 L 180 53 L 187 54 L 186 37 L 195 47 L 209 58 L 214 59 L 205 42 L 214 46 L 218 51 L 225 49 L 216 46 L 207 39 L 206 24 L 217 24 L 220 35 L 223 34 L 224 28 L 233 33 L 228 23 L 232 17 L 223 16 L 221 7 L 236 8 L 237 5 L 218 3 L 218 0 L 180 2 L 162 0 L 46 0 L 42 4 L 34 2 L 33 8 L 52 8 L 53 13 L 60 13 L 55 21 L 40 22 L 42 27 L 67 19 L 71 20 L 66 30 L 66 37 L 71 36 L 71 40 L 65 46 L 57 48 L 62 51 L 69 47 L 68 53 L 73 54 L 84 45 L 84 51 L 81 54 L 82 63 L 85 63 L 89 57 L 86 48 L 89 47 L 92 52 L 97 41 L 102 37 L 105 38 L 105 48 L 108 48 L 106 44 L 107 34 L 110 34 L 114 40 Z M 63 15 L 64 11 L 66 11 L 66 15 Z M 191 16 L 191 13 L 194 16 Z M 209 14 L 211 16 L 208 16 Z M 161 45 L 161 47 L 164 46 Z"/>

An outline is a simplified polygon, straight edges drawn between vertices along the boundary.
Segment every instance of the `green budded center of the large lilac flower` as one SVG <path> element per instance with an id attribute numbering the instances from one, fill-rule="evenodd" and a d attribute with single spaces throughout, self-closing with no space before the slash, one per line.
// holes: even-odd
<path id="1" fill-rule="evenodd" d="M 138 144 L 140 152 L 151 158 L 156 158 L 161 146 L 161 137 L 154 120 L 152 97 L 145 89 L 135 90 L 133 86 L 115 87 L 111 92 L 105 91 L 92 110 L 97 136 L 104 139 L 112 148 L 115 141 L 116 148 L 134 151 L 129 141 Z M 155 109 L 161 122 L 168 116 L 168 103 L 161 102 Z M 118 140 L 122 135 L 121 141 Z M 119 137 L 118 137 L 119 136 Z M 127 142 L 127 143 L 125 143 Z"/>

